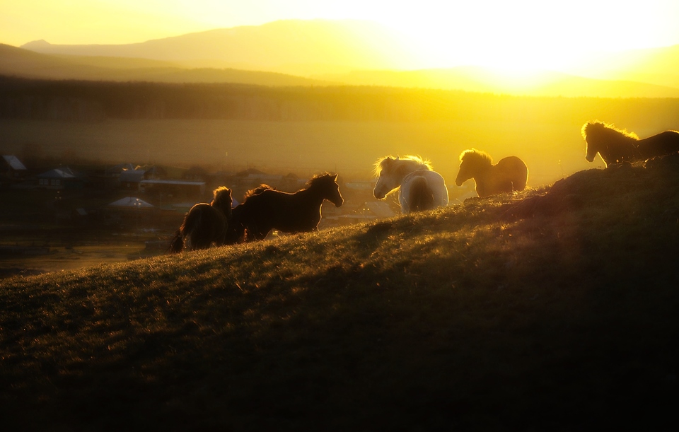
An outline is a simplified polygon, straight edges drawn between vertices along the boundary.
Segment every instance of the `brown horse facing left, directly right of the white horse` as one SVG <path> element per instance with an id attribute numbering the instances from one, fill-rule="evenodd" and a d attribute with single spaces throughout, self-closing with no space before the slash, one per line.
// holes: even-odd
<path id="1" fill-rule="evenodd" d="M 528 168 L 516 156 L 502 158 L 493 165 L 488 153 L 471 148 L 460 154 L 460 171 L 455 177 L 455 185 L 462 186 L 470 178 L 476 182 L 479 197 L 488 197 L 526 189 Z"/>

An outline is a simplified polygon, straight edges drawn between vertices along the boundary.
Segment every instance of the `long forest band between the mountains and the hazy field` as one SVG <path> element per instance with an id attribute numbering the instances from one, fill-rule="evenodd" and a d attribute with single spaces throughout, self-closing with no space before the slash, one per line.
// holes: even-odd
<path id="1" fill-rule="evenodd" d="M 40 81 L 0 77 L 0 118 L 249 119 L 419 122 L 482 119 L 679 122 L 679 99 L 538 98 L 371 86 L 265 87 L 238 84 Z M 677 125 L 679 128 L 679 124 Z"/>

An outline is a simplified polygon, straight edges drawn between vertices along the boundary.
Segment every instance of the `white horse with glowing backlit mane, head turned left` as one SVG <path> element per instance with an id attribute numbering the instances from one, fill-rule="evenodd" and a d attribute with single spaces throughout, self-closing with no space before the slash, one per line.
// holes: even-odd
<path id="1" fill-rule="evenodd" d="M 431 170 L 429 160 L 419 156 L 391 158 L 387 156 L 375 164 L 375 173 L 379 176 L 373 195 L 383 199 L 397 187 L 398 202 L 401 212 L 431 210 L 448 205 L 448 188 L 443 177 Z"/>

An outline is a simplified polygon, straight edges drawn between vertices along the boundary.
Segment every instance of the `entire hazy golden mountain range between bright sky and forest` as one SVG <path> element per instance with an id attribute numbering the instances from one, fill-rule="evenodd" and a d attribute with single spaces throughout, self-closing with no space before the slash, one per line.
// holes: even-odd
<path id="1" fill-rule="evenodd" d="M 397 86 L 530 96 L 678 98 L 679 45 L 608 54 L 568 74 L 413 70 L 400 36 L 367 21 L 289 20 L 128 45 L 0 46 L 0 74 L 265 86 Z M 11 49 L 12 48 L 12 49 Z M 660 72 L 658 72 L 660 71 Z"/>

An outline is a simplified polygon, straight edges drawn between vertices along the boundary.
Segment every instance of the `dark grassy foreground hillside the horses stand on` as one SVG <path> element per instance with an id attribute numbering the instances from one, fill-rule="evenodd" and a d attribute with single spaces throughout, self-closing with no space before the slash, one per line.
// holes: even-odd
<path id="1" fill-rule="evenodd" d="M 2 281 L 3 426 L 669 427 L 679 161 L 647 165 L 315 235 Z"/>

